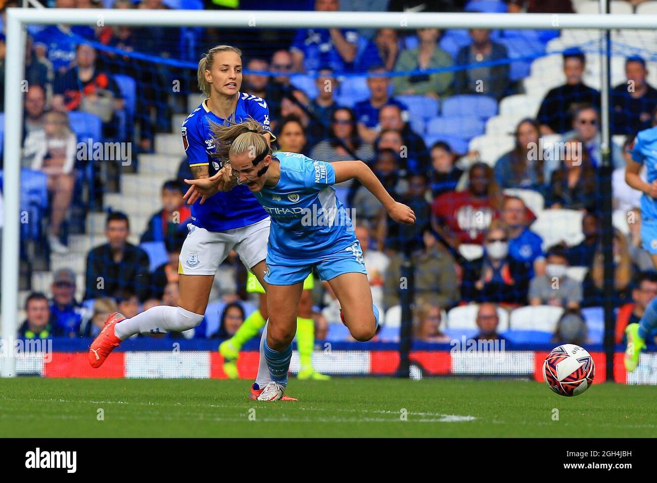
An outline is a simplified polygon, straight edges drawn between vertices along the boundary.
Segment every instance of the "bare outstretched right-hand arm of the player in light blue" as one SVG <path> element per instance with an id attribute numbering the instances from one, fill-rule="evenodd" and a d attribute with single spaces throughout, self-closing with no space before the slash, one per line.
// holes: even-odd
<path id="1" fill-rule="evenodd" d="M 376 196 L 381 202 L 390 218 L 403 223 L 412 225 L 415 223 L 415 213 L 405 204 L 397 203 L 392 196 L 386 191 L 372 170 L 362 161 L 338 161 L 331 163 L 335 170 L 335 182 L 342 183 L 350 179 L 357 179 L 367 190 Z"/>

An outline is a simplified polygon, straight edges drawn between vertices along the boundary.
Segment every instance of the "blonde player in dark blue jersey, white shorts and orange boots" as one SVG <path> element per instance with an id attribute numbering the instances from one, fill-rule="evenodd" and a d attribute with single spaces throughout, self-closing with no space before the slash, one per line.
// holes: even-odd
<path id="1" fill-rule="evenodd" d="M 156 306 L 129 319 L 120 313 L 110 315 L 101 334 L 89 347 L 89 363 L 93 367 L 100 367 L 122 340 L 134 334 L 182 332 L 196 327 L 203 320 L 215 272 L 231 250 L 237 252 L 242 263 L 263 283 L 269 215 L 248 187 L 235 186 L 233 177 L 226 174 L 230 168 L 222 167 L 219 159 L 212 156 L 215 145 L 210 128 L 229 119 L 255 119 L 263 130 L 265 143 L 269 145 L 273 139 L 265 100 L 240 92 L 240 56 L 239 49 L 218 45 L 200 60 L 198 84 L 208 97 L 187 116 L 181 127 L 183 147 L 194 178 L 212 177 L 217 191 L 204 204 L 192 206 L 189 233 L 178 265 L 179 306 Z M 256 382 L 262 386 L 269 382 L 264 363 L 260 365 Z M 260 391 L 252 390 L 252 398 L 257 394 Z"/>

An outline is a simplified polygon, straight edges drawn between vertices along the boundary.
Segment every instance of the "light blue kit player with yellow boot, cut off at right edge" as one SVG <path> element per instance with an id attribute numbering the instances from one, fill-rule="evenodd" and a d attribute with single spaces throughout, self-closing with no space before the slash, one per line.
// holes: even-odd
<path id="1" fill-rule="evenodd" d="M 641 242 L 657 267 L 657 127 L 637 134 L 632 145 L 632 160 L 625 166 L 625 182 L 643 192 L 641 196 Z M 648 168 L 648 182 L 639 176 L 643 164 Z M 657 298 L 653 298 L 639 323 L 627 325 L 625 369 L 633 372 L 639 365 L 641 350 L 650 333 L 657 328 Z"/>

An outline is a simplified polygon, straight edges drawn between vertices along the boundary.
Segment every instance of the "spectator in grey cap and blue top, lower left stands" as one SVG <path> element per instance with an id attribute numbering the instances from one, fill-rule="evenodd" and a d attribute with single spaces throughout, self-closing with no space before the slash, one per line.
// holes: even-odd
<path id="1" fill-rule="evenodd" d="M 75 337 L 83 322 L 84 310 L 75 298 L 76 274 L 68 268 L 55 272 L 53 283 L 53 300 L 50 311 L 53 316 L 53 330 L 64 336 Z"/>

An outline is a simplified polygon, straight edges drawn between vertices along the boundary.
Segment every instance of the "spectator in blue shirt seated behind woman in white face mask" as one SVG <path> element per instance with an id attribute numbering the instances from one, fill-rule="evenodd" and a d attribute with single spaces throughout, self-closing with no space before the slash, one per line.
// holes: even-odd
<path id="1" fill-rule="evenodd" d="M 507 196 L 502 202 L 502 221 L 509 227 L 509 255 L 528 265 L 530 278 L 545 273 L 543 239 L 527 226 L 527 207 L 521 198 Z"/>

